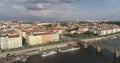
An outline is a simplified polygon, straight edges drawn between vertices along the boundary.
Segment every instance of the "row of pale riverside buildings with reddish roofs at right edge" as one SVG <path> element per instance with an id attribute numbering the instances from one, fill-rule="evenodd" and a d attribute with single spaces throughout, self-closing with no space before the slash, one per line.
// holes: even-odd
<path id="1" fill-rule="evenodd" d="M 100 36 L 109 35 L 120 32 L 120 26 L 114 24 L 97 24 L 90 31 Z"/>

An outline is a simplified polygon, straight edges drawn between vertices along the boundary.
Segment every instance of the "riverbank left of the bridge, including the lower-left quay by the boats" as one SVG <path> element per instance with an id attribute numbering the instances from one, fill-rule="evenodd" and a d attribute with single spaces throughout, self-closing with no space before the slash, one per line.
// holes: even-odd
<path id="1" fill-rule="evenodd" d="M 26 55 L 27 53 L 29 56 L 40 54 L 43 51 L 48 51 L 48 50 L 58 50 L 60 48 L 64 47 L 69 47 L 69 46 L 77 46 L 77 44 L 73 41 L 71 42 L 64 42 L 64 43 L 58 43 L 58 44 L 53 44 L 53 45 L 47 45 L 47 46 L 40 46 L 36 48 L 30 48 L 26 50 L 19 50 L 19 51 L 11 51 L 11 52 L 6 52 L 0 54 L 0 63 L 2 62 L 14 62 L 16 57 L 20 57 L 22 55 Z M 38 53 L 34 53 L 38 51 Z M 7 56 L 9 54 L 9 56 Z M 10 59 L 10 61 L 9 61 Z"/>

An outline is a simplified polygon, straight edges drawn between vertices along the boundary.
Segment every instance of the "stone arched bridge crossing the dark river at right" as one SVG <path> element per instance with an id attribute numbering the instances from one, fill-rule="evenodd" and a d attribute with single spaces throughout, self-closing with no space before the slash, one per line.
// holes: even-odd
<path id="1" fill-rule="evenodd" d="M 80 41 L 79 39 L 76 39 L 75 42 L 79 43 L 86 49 L 88 49 L 89 46 L 91 46 L 97 50 L 97 53 L 101 53 L 101 52 L 103 52 L 104 49 L 106 49 L 106 50 L 109 50 L 110 52 L 112 52 L 113 54 L 115 54 L 115 56 L 114 56 L 115 58 L 120 57 L 120 49 L 117 47 L 103 45 L 100 42 L 99 43 L 98 42 L 83 42 L 83 41 Z"/>

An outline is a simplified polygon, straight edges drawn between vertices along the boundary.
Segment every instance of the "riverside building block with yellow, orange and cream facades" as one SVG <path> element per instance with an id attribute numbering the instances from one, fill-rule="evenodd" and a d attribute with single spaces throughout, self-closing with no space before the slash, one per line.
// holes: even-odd
<path id="1" fill-rule="evenodd" d="M 29 45 L 49 44 L 59 41 L 59 34 L 48 32 L 27 33 L 26 40 Z"/>

